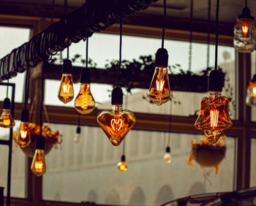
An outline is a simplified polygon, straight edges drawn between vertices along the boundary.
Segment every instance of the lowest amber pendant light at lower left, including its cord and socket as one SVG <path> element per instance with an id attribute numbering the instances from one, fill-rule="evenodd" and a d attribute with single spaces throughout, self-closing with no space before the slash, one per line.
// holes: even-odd
<path id="1" fill-rule="evenodd" d="M 40 134 L 37 137 L 36 150 L 34 152 L 33 161 L 31 164 L 31 172 L 34 175 L 42 176 L 46 172 L 45 163 L 45 138 L 42 137 L 42 109 L 43 109 L 43 99 L 44 99 L 44 77 L 42 70 L 41 77 L 41 105 L 40 105 Z"/>

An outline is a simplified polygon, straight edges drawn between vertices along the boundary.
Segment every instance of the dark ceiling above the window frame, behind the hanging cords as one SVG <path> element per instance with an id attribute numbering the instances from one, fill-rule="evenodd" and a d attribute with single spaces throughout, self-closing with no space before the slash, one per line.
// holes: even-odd
<path id="1" fill-rule="evenodd" d="M 214 21 L 217 0 L 211 1 L 211 20 Z M 85 0 L 68 0 L 67 12 L 72 12 L 84 2 Z M 161 27 L 162 4 L 163 0 L 159 0 L 151 4 L 146 10 L 135 12 L 131 17 L 127 18 L 127 23 Z M 248 0 L 248 5 L 252 10 L 252 15 L 256 16 L 256 1 Z M 244 0 L 221 0 L 219 10 L 220 22 L 230 25 L 230 28 L 233 27 L 233 24 L 236 22 L 236 15 L 241 13 L 243 6 Z M 194 0 L 195 30 L 204 30 L 203 27 L 207 26 L 207 11 L 208 0 Z M 64 15 L 64 0 L 0 0 L 0 14 L 59 18 Z M 189 28 L 189 15 L 190 0 L 167 0 L 167 23 L 170 28 Z M 226 32 L 225 28 L 222 30 L 224 33 Z M 231 32 L 229 28 L 227 30 L 227 33 Z"/>

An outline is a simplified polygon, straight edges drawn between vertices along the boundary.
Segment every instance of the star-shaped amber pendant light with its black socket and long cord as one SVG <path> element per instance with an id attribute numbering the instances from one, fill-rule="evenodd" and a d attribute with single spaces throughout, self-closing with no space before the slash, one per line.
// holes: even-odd
<path id="1" fill-rule="evenodd" d="M 228 113 L 228 99 L 222 96 L 223 75 L 218 69 L 219 0 L 216 11 L 215 67 L 208 77 L 210 96 L 201 101 L 200 115 L 195 122 L 196 129 L 202 129 L 208 142 L 216 144 L 222 131 L 232 126 Z"/>

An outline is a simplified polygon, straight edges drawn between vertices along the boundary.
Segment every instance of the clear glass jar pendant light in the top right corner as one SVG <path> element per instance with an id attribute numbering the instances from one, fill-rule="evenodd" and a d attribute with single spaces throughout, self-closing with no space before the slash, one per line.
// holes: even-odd
<path id="1" fill-rule="evenodd" d="M 241 15 L 237 16 L 234 28 L 234 46 L 238 52 L 252 53 L 255 50 L 255 18 L 252 17 L 247 0 Z"/>

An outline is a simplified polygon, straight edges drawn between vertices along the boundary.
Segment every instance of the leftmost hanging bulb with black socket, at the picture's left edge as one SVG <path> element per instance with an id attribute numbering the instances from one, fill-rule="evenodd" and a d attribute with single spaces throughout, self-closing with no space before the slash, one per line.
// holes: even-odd
<path id="1" fill-rule="evenodd" d="M 0 126 L 4 128 L 11 128 L 15 126 L 15 121 L 10 113 L 11 102 L 9 98 L 4 99 L 4 107 L 0 116 Z"/>

